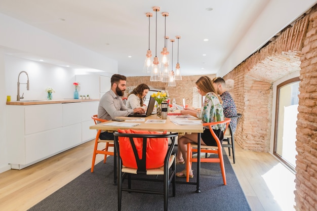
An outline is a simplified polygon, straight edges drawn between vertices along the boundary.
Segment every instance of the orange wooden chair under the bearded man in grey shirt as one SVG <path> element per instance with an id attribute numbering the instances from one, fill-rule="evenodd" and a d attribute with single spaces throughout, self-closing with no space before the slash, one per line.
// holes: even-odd
<path id="1" fill-rule="evenodd" d="M 101 122 L 105 122 L 107 120 L 105 119 L 99 119 L 97 114 L 93 115 L 91 117 L 95 124 L 97 124 L 97 121 L 101 121 Z M 91 172 L 94 172 L 94 167 L 95 167 L 95 161 L 96 161 L 96 155 L 97 154 L 104 154 L 104 159 L 103 159 L 103 163 L 105 163 L 107 161 L 107 155 L 112 155 L 113 156 L 113 152 L 109 152 L 108 148 L 109 147 L 114 147 L 114 141 L 113 140 L 101 140 L 99 139 L 101 130 L 98 130 L 97 135 L 96 135 L 96 139 L 95 139 L 95 147 L 94 147 L 94 153 L 93 153 L 93 161 L 91 164 Z M 99 143 L 106 143 L 105 148 L 103 148 L 102 150 L 98 149 L 98 144 Z"/>

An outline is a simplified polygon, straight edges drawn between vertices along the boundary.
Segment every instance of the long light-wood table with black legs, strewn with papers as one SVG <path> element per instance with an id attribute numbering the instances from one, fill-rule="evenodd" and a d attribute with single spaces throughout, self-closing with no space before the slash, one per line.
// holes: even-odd
<path id="1" fill-rule="evenodd" d="M 124 117 L 123 117 L 124 118 Z M 125 117 L 128 119 L 135 119 L 139 117 Z M 148 119 L 156 119 L 156 115 L 150 115 L 148 117 L 145 117 L 145 121 Z M 135 121 L 140 123 L 140 125 L 133 126 L 132 128 L 118 128 L 117 126 L 108 126 L 105 125 L 107 123 L 113 122 L 113 121 L 107 121 L 102 122 L 99 124 L 95 124 L 90 126 L 90 129 L 92 130 L 104 130 L 108 132 L 115 132 L 118 129 L 133 129 L 133 130 L 141 130 L 141 131 L 158 131 L 158 132 L 178 132 L 179 135 L 183 135 L 185 133 L 191 134 L 191 133 L 197 133 L 197 140 L 198 140 L 198 154 L 197 154 L 197 180 L 195 183 L 189 182 L 186 184 L 195 184 L 196 185 L 196 192 L 200 192 L 200 169 L 201 169 L 201 160 L 200 160 L 200 146 L 201 146 L 201 133 L 204 132 L 203 124 L 200 125 L 176 125 L 173 122 L 170 121 L 169 117 L 166 119 L 166 123 L 145 123 L 145 121 Z M 130 122 L 130 121 L 129 121 Z"/>

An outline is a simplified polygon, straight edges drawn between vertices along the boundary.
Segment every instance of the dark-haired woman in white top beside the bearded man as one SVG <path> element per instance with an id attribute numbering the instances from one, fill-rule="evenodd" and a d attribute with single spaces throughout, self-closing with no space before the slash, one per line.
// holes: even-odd
<path id="1" fill-rule="evenodd" d="M 126 107 L 128 109 L 135 109 L 135 108 L 142 107 L 146 110 L 146 105 L 143 104 L 144 103 L 143 99 L 147 95 L 148 91 L 150 91 L 150 88 L 145 83 L 141 83 L 140 85 L 138 85 L 128 95 Z"/>

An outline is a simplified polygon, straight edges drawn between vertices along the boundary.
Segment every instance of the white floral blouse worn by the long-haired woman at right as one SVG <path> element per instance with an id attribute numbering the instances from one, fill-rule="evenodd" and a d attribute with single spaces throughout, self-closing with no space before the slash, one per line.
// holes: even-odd
<path id="1" fill-rule="evenodd" d="M 209 92 L 206 94 L 204 105 L 201 112 L 197 113 L 197 117 L 202 119 L 204 122 L 215 122 L 224 120 L 223 108 L 219 102 L 218 97 L 214 93 Z M 214 130 L 220 129 L 221 131 L 224 131 L 225 123 L 215 124 L 212 126 L 212 128 Z"/>

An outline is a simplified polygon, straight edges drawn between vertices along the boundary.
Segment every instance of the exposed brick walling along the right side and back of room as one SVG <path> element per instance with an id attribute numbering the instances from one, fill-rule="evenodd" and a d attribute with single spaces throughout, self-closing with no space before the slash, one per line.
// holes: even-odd
<path id="1" fill-rule="evenodd" d="M 235 132 L 236 143 L 243 149 L 267 152 L 270 134 L 274 133 L 270 131 L 272 83 L 299 69 L 295 209 L 317 210 L 317 6 L 224 79 L 237 111 L 243 114 Z M 168 90 L 177 102 L 185 98 L 191 105 L 192 88 L 199 77 L 183 76 L 176 88 L 167 87 L 167 83 L 150 82 L 149 77 L 128 77 L 127 86 L 145 82 L 151 88 Z"/>

